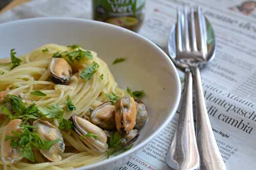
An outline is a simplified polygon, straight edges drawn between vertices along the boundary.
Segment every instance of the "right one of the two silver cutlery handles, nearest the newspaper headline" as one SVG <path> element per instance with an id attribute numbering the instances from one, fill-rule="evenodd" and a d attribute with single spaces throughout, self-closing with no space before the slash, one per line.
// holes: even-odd
<path id="1" fill-rule="evenodd" d="M 214 133 L 212 132 L 209 116 L 204 101 L 200 71 L 192 67 L 193 82 L 195 83 L 196 96 L 196 131 L 197 145 L 200 153 L 200 170 L 226 170 L 221 157 Z"/>

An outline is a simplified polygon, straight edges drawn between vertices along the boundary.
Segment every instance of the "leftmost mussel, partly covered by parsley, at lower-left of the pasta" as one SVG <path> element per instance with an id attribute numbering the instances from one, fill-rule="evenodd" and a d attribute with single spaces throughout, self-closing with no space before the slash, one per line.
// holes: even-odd
<path id="1" fill-rule="evenodd" d="M 1 143 L 1 158 L 5 164 L 15 163 L 23 158 L 16 148 L 12 148 L 10 140 L 5 140 L 6 136 L 12 136 L 12 131 L 22 132 L 19 124 L 22 123 L 22 119 L 13 119 L 7 125 Z"/>

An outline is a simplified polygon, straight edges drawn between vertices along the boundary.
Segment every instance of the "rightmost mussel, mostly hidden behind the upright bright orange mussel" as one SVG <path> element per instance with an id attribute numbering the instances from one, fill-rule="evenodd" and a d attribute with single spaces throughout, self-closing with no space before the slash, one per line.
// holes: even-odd
<path id="1" fill-rule="evenodd" d="M 147 109 L 143 102 L 136 100 L 136 125 L 135 129 L 140 129 L 144 126 L 147 119 Z"/>

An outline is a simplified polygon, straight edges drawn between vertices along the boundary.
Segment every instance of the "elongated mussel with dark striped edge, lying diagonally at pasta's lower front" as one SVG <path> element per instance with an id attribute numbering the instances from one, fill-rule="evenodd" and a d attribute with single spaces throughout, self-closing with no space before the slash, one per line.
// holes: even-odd
<path id="1" fill-rule="evenodd" d="M 108 150 L 108 144 L 106 143 L 108 138 L 102 129 L 76 114 L 72 115 L 72 120 L 74 130 L 88 148 L 100 153 Z M 87 137 L 88 133 L 96 135 L 96 137 Z"/>

